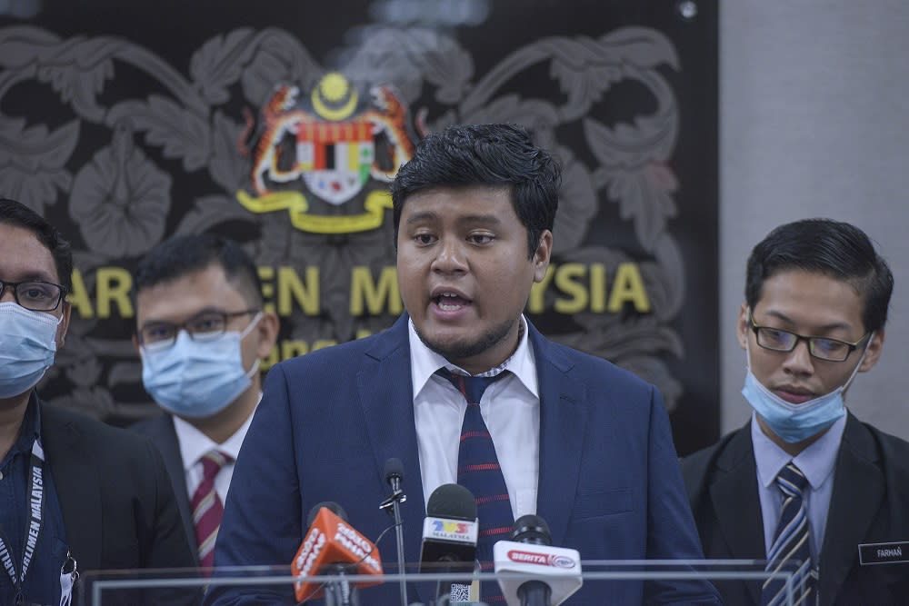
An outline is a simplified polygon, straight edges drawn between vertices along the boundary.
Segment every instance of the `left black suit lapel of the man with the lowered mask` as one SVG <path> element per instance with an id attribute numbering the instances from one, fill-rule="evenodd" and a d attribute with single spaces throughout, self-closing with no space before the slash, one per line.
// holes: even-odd
<path id="1" fill-rule="evenodd" d="M 736 560 L 764 560 L 764 518 L 757 492 L 757 465 L 750 425 L 736 433 L 716 461 L 710 498 L 729 553 Z M 760 583 L 745 583 L 754 603 Z"/>

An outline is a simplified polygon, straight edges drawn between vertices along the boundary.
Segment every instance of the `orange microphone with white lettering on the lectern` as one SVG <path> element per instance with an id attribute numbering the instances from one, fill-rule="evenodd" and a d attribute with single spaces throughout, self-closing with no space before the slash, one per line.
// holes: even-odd
<path id="1" fill-rule="evenodd" d="M 382 574 L 382 556 L 372 541 L 355 531 L 347 522 L 344 509 L 335 502 L 321 502 L 310 510 L 309 531 L 291 562 L 295 577 L 320 574 Z M 378 585 L 382 581 L 359 581 L 356 587 Z M 326 604 L 356 604 L 353 588 L 347 581 L 295 581 L 296 601 L 307 601 L 325 594 Z"/>

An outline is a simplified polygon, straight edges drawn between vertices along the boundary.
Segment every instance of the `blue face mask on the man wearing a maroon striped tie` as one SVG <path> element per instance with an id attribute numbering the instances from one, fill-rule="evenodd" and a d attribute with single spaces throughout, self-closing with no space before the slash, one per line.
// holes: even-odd
<path id="1" fill-rule="evenodd" d="M 242 333 L 193 339 L 180 331 L 172 345 L 143 345 L 145 391 L 165 411 L 180 417 L 202 419 L 223 411 L 253 384 L 259 371 L 258 358 L 249 371 L 243 367 L 241 343 L 261 317 L 257 313 Z"/>

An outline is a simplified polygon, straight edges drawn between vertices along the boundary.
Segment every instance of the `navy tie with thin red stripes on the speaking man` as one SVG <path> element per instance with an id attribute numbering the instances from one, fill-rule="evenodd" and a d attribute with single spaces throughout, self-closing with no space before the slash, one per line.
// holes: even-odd
<path id="1" fill-rule="evenodd" d="M 493 544 L 509 537 L 514 524 L 514 513 L 502 468 L 495 455 L 493 438 L 480 414 L 480 399 L 486 387 L 509 373 L 504 371 L 494 377 L 469 377 L 445 369 L 438 373 L 451 381 L 467 401 L 457 454 L 457 483 L 472 492 L 476 499 L 476 515 L 480 527 L 476 541 L 476 559 L 481 562 L 483 571 L 489 571 L 492 570 Z M 487 585 L 495 588 L 495 593 L 500 591 L 494 583 L 484 583 L 484 601 L 494 602 L 500 596 L 490 595 Z"/>

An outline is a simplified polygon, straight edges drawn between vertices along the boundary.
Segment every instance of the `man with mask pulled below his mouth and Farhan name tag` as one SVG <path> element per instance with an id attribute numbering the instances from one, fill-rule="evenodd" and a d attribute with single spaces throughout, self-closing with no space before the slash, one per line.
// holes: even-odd
<path id="1" fill-rule="evenodd" d="M 704 555 L 791 573 L 794 603 L 909 599 L 909 443 L 844 407 L 881 356 L 893 287 L 853 225 L 774 229 L 738 319 L 752 420 L 682 463 Z M 714 584 L 728 604 L 788 603 L 782 576 Z"/>

